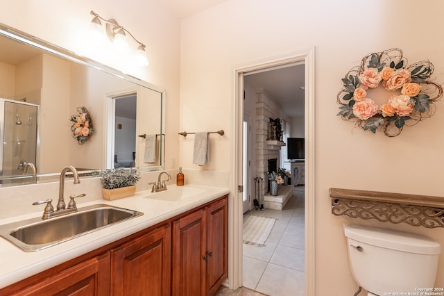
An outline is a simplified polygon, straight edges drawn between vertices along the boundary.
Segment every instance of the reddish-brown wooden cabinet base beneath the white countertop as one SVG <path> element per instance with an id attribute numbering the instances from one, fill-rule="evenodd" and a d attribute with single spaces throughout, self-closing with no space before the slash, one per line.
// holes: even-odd
<path id="1" fill-rule="evenodd" d="M 35 274 L 0 295 L 214 295 L 227 277 L 227 199 Z"/>

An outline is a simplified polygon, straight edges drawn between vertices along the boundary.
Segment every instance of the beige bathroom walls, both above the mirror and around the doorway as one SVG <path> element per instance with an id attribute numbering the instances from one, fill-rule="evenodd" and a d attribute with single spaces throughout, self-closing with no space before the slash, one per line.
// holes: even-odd
<path id="1" fill-rule="evenodd" d="M 172 166 L 172 158 L 177 167 L 179 157 L 184 168 L 195 167 L 191 137 L 176 137 L 179 51 L 180 129 L 229 131 L 234 67 L 315 46 L 316 249 L 309 252 L 316 252 L 316 295 L 352 295 L 357 288 L 348 267 L 344 222 L 423 233 L 444 245 L 444 229 L 334 217 L 328 197 L 331 187 L 444 196 L 442 102 L 437 103 L 434 117 L 407 127 L 397 138 L 364 133 L 336 117 L 341 77 L 369 52 L 399 47 L 411 63 L 431 60 L 434 78 L 444 81 L 444 43 L 438 31 L 444 28 L 441 0 L 232 0 L 185 19 L 180 38 L 179 22 L 155 1 L 134 3 L 5 0 L 0 19 L 121 70 L 126 65 L 118 58 L 92 53 L 85 42 L 89 10 L 114 17 L 143 40 L 151 65 L 128 73 L 167 89 L 167 167 Z M 212 142 L 217 141 L 210 152 L 212 163 L 203 170 L 228 172 L 232 136 L 218 137 L 212 135 Z M 436 286 L 444 286 L 444 255 Z"/>

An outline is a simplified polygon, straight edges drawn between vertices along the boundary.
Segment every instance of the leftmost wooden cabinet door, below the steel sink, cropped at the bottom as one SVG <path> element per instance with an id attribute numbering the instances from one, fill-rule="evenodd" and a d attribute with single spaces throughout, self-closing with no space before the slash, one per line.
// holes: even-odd
<path id="1" fill-rule="evenodd" d="M 78 263 L 40 283 L 7 295 L 109 295 L 110 253 Z"/>

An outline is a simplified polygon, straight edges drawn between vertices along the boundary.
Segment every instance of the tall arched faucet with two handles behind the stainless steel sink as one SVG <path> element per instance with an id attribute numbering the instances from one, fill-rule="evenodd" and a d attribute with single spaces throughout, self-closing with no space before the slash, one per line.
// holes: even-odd
<path id="1" fill-rule="evenodd" d="M 65 215 L 68 213 L 73 213 L 77 211 L 76 202 L 74 199 L 77 197 L 84 197 L 85 193 L 82 193 L 80 195 L 71 195 L 68 208 L 65 206 L 65 199 L 63 198 L 63 192 L 65 190 L 65 174 L 71 171 L 72 175 L 74 176 L 74 184 L 80 183 L 80 179 L 78 178 L 77 170 L 72 167 L 71 165 L 68 165 L 65 167 L 62 172 L 60 173 L 60 184 L 59 184 L 59 191 L 58 191 L 58 203 L 57 203 L 57 211 L 54 211 L 53 205 L 51 202 L 52 199 L 46 199 L 38 202 L 34 202 L 33 205 L 39 205 L 39 204 L 46 204 L 44 211 L 43 211 L 43 217 L 42 219 L 49 219 L 50 217 L 56 217 L 60 215 Z"/>

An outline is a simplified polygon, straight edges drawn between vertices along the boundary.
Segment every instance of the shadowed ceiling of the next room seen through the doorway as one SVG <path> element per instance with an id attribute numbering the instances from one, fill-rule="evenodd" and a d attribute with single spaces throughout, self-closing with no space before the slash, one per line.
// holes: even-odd
<path id="1" fill-rule="evenodd" d="M 304 116 L 305 65 L 246 74 L 244 84 L 253 89 L 266 90 L 288 117 Z"/>

